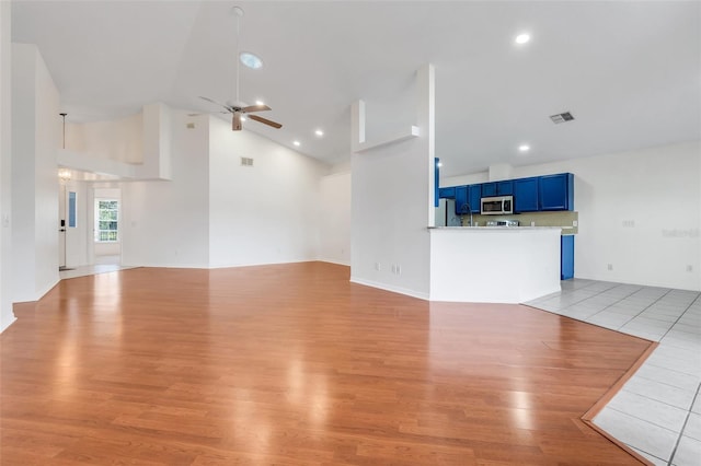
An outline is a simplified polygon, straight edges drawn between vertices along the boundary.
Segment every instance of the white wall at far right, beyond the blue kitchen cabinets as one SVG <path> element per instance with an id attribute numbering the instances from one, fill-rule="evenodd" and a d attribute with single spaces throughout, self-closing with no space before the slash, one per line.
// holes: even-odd
<path id="1" fill-rule="evenodd" d="M 575 277 L 701 290 L 700 165 L 697 141 L 514 167 L 513 176 L 574 173 Z"/>

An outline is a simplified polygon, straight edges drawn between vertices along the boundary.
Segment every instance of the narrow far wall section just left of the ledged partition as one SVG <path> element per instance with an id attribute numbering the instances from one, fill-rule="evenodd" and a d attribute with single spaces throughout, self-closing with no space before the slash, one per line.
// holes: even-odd
<path id="1" fill-rule="evenodd" d="M 350 172 L 320 180 L 319 260 L 350 265 Z"/>

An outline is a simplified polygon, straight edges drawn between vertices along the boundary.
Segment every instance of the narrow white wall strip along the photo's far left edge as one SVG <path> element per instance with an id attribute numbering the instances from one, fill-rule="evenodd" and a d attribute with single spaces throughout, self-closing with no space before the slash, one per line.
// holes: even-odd
<path id="1" fill-rule="evenodd" d="M 14 322 L 12 314 L 12 249 L 10 222 L 11 199 L 11 132 L 12 115 L 12 3 L 0 1 L 0 331 Z"/>

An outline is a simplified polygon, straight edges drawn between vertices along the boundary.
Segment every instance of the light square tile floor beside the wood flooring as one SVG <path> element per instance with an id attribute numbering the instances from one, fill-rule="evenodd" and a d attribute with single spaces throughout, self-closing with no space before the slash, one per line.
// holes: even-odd
<path id="1" fill-rule="evenodd" d="M 525 304 L 658 341 L 594 422 L 655 465 L 701 466 L 700 296 L 573 279 Z"/>

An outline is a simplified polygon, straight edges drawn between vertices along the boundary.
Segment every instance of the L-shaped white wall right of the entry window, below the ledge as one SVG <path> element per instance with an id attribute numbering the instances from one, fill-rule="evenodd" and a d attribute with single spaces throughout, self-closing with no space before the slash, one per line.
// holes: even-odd
<path id="1" fill-rule="evenodd" d="M 185 112 L 169 115 L 171 180 L 125 182 L 122 188 L 122 264 L 208 267 L 209 158 L 207 117 L 195 127 Z"/>

